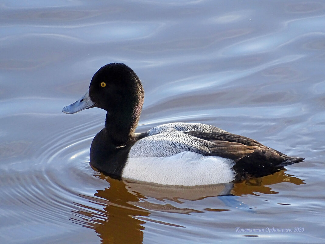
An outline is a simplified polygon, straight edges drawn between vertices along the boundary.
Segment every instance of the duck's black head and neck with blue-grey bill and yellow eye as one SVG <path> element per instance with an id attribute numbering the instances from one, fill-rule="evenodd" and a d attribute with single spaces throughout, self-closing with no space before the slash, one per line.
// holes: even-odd
<path id="1" fill-rule="evenodd" d="M 72 114 L 86 108 L 107 111 L 105 128 L 116 143 L 132 137 L 144 100 L 142 84 L 136 73 L 123 63 L 110 63 L 93 76 L 88 92 L 77 102 L 64 107 Z"/>

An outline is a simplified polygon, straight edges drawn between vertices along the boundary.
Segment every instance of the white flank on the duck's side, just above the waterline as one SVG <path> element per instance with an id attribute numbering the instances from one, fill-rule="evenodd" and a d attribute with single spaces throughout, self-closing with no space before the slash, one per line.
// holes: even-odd
<path id="1" fill-rule="evenodd" d="M 169 157 L 129 158 L 123 178 L 164 185 L 208 185 L 235 179 L 234 161 L 218 156 L 182 152 Z"/>

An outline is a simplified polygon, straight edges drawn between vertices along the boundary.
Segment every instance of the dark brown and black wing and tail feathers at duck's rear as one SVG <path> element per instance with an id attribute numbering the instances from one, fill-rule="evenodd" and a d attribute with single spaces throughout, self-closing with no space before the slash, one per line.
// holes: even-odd
<path id="1" fill-rule="evenodd" d="M 214 142 L 211 156 L 233 159 L 236 180 L 262 177 L 281 170 L 284 166 L 301 162 L 305 158 L 289 157 L 273 148 L 240 135 L 231 133 L 187 132 L 187 134 Z"/>

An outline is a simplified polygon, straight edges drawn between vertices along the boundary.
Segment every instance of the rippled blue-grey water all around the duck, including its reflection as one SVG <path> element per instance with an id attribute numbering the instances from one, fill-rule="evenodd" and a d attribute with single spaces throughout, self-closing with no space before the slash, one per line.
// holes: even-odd
<path id="1" fill-rule="evenodd" d="M 324 243 L 324 8 L 2 1 L 1 243 Z M 89 166 L 105 112 L 61 109 L 110 62 L 143 83 L 138 132 L 212 124 L 305 162 L 201 187 L 105 177 Z"/>

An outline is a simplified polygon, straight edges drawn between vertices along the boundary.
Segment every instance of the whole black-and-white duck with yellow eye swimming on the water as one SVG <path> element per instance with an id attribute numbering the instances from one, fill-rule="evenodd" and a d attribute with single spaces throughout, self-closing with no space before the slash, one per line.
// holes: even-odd
<path id="1" fill-rule="evenodd" d="M 90 146 L 92 167 L 120 180 L 194 186 L 263 177 L 305 159 L 201 123 L 168 123 L 136 133 L 143 102 L 136 73 L 109 63 L 95 73 L 84 96 L 63 108 L 66 114 L 93 107 L 107 112 Z"/>

